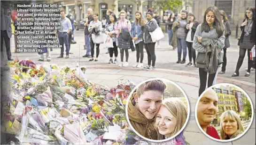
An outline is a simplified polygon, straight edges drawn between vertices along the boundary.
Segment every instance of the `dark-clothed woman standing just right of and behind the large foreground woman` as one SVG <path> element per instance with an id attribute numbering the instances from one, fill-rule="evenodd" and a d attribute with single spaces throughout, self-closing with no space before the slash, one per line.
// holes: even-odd
<path id="1" fill-rule="evenodd" d="M 231 30 L 230 30 L 230 24 L 228 22 L 227 19 L 227 15 L 223 10 L 220 10 L 221 13 L 221 20 L 225 26 L 225 46 L 223 48 L 224 54 L 223 54 L 223 64 L 221 67 L 221 72 L 219 72 L 220 74 L 224 74 L 226 71 L 226 65 L 227 65 L 227 48 L 230 47 L 230 43 L 229 43 L 229 36 L 231 35 Z"/>

